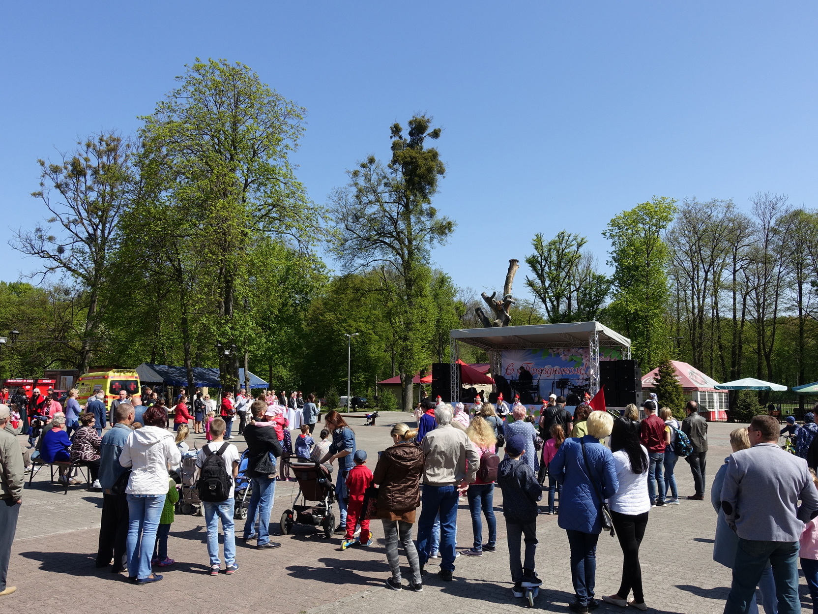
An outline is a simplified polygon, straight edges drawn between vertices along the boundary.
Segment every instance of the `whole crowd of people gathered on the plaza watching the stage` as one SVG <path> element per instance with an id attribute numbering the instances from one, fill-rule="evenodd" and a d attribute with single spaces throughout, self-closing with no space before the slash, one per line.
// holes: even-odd
<path id="1" fill-rule="evenodd" d="M 615 593 L 600 599 L 646 610 L 640 544 L 650 509 L 681 502 L 674 476 L 679 456 L 690 464 L 694 478 L 694 494 L 686 499 L 702 500 L 706 490 L 708 423 L 693 401 L 686 405 L 687 417 L 680 424 L 670 409 L 658 407 L 656 399 L 642 405 L 644 416 L 629 405 L 616 418 L 606 411 L 591 411 L 587 404 L 572 413 L 564 398 L 556 396 L 544 400 L 539 416 L 519 400 L 511 406 L 502 399 L 497 404 L 475 400 L 467 409 L 460 403 L 425 399 L 416 413 L 416 427 L 394 425 L 393 445 L 379 454 L 371 470 L 366 452 L 357 448 L 355 432 L 337 411 L 326 413 L 320 440 L 313 439 L 321 419 L 313 395 L 299 404 L 300 395 L 295 393 L 278 397 L 270 391 L 253 399 L 240 391 L 235 398 L 224 395 L 215 408 L 207 395 L 196 391 L 192 404 L 180 395 L 169 409 L 161 395 L 148 390 L 133 397 L 122 395 L 107 409 L 102 396 L 92 397 L 82 408 L 76 391 L 70 391 L 69 401 L 74 403 L 66 403 L 65 411 L 52 408 L 47 395 L 39 396 L 43 406 L 38 409 L 47 408 L 50 415 L 36 414 L 47 422 L 31 454 L 44 463 L 62 463 L 61 472 L 70 463 L 88 467 L 92 487 L 103 497 L 97 567 L 127 571 L 137 585 L 162 580 L 155 570 L 174 563 L 168 535 L 178 489 L 169 470 L 179 466 L 183 455 L 195 456 L 209 574 L 239 570 L 233 512 L 241 455 L 230 443 L 235 438 L 234 419 L 247 444 L 245 475 L 252 485 L 241 539 L 254 540 L 261 550 L 281 546 L 270 540 L 270 516 L 276 479 L 286 475 L 288 463 L 334 467 L 339 509 L 335 533 L 343 535 L 341 549 L 374 544 L 370 521 L 379 519 L 391 570 L 385 581 L 393 590 L 421 591 L 430 559 L 440 559 L 439 579 L 451 581 L 457 557 L 495 552 L 497 486 L 503 496 L 515 597 L 542 585 L 535 562 L 537 519 L 541 513 L 556 513 L 570 551 L 574 599 L 569 609 L 582 614 L 599 605 L 596 544 L 606 531 L 618 538 L 622 549 L 622 581 Z M 24 466 L 30 463 L 14 437 L 23 428 L 14 409 L 0 404 L 0 526 L 11 527 L 0 536 L 0 595 L 13 591 L 6 585 L 6 574 Z M 191 421 L 195 432 L 207 436 L 196 451 L 185 441 Z M 108 422 L 112 426 L 102 432 Z M 818 514 L 818 481 L 802 458 L 815 440 L 810 424 L 818 426 L 808 422 L 805 427 L 784 428 L 789 436 L 801 438 L 802 454 L 781 449 L 777 442 L 784 431 L 770 416 L 757 416 L 748 428 L 730 434 L 733 454 L 719 468 L 711 489 L 717 512 L 713 558 L 733 570 L 725 612 L 757 612 L 756 587 L 762 590 L 766 612 L 800 612 L 799 557 L 818 603 L 818 527 L 813 520 Z M 294 438 L 291 431 L 297 431 Z M 802 432 L 813 435 L 806 445 Z M 61 473 L 60 480 L 71 481 L 72 476 Z M 468 502 L 472 539 L 468 547 L 458 549 L 461 497 Z M 409 563 L 407 585 L 399 549 Z"/>

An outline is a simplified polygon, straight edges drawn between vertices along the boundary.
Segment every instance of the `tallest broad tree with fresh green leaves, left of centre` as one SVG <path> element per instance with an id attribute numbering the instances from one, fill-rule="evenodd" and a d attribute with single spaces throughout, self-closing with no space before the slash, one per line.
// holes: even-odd
<path id="1" fill-rule="evenodd" d="M 320 222 L 289 160 L 304 110 L 240 63 L 197 59 L 177 80 L 180 87 L 142 118 L 147 197 L 190 221 L 186 240 L 206 278 L 195 285 L 213 304 L 209 338 L 243 350 L 255 246 L 266 236 L 309 246 Z M 225 386 L 238 384 L 239 354 L 219 357 Z"/>

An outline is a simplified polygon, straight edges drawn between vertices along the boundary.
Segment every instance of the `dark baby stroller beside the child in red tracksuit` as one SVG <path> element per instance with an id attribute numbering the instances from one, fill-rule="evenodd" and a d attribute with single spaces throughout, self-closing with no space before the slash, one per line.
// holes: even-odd
<path id="1" fill-rule="evenodd" d="M 335 486 L 330 472 L 321 463 L 293 463 L 295 479 L 299 482 L 299 492 L 295 495 L 292 509 L 281 514 L 281 535 L 290 535 L 293 526 L 321 526 L 324 536 L 330 538 L 335 530 Z M 303 505 L 298 505 L 299 498 Z M 315 502 L 310 505 L 309 502 Z"/>

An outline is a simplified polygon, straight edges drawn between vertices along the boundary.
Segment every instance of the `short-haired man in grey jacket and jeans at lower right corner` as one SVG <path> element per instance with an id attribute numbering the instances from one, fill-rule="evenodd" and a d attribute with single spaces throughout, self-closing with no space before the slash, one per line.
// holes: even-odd
<path id="1" fill-rule="evenodd" d="M 730 455 L 721 487 L 725 520 L 739 536 L 724 612 L 748 612 L 762 571 L 771 565 L 779 614 L 798 614 L 798 540 L 804 528 L 798 499 L 810 517 L 818 510 L 818 492 L 807 461 L 777 444 L 776 418 L 756 416 L 747 430 L 752 447 Z"/>

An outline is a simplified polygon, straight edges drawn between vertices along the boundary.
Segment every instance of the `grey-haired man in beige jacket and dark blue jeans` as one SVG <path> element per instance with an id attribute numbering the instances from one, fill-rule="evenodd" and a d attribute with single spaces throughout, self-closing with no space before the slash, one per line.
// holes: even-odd
<path id="1" fill-rule="evenodd" d="M 438 426 L 420 442 L 425 458 L 423 471 L 423 507 L 417 528 L 420 570 L 429 560 L 434 518 L 440 514 L 440 579 L 452 580 L 455 569 L 455 530 L 457 501 L 461 491 L 474 481 L 480 464 L 479 450 L 465 434 L 452 427 L 452 405 L 438 404 L 434 419 Z"/>

